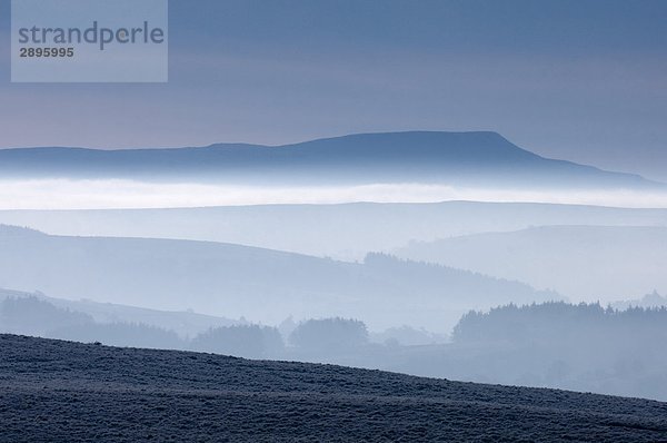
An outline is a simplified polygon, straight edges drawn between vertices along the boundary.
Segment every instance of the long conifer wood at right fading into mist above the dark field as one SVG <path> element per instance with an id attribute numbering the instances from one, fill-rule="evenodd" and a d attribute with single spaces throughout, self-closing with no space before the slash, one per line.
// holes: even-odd
<path id="1" fill-rule="evenodd" d="M 442 376 L 667 398 L 667 308 L 507 305 L 471 312 L 438 363 Z"/>

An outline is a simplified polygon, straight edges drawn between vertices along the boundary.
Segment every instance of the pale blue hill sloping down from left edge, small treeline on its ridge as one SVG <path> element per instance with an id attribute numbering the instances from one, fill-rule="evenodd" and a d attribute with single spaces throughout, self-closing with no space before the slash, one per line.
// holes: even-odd
<path id="1" fill-rule="evenodd" d="M 528 285 L 371 254 L 346 263 L 210 242 L 49 236 L 0 226 L 0 287 L 277 324 L 346 316 L 447 332 L 469 308 L 558 298 Z"/>

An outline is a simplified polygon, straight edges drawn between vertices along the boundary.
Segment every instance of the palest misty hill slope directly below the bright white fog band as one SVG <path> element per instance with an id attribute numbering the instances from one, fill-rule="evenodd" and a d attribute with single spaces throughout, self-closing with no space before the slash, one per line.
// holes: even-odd
<path id="1" fill-rule="evenodd" d="M 667 226 L 667 209 L 478 201 L 357 203 L 176 209 L 0 210 L 0 223 L 58 235 L 222 242 L 361 260 L 369 252 L 391 250 L 410 240 L 430 242 L 529 226 Z"/>

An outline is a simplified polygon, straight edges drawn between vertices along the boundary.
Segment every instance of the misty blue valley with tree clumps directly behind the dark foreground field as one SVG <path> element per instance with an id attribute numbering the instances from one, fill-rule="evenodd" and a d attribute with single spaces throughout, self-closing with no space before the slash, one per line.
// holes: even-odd
<path id="1" fill-rule="evenodd" d="M 667 298 L 659 294 L 624 308 L 547 302 L 471 311 L 451 337 L 406 325 L 374 332 L 340 317 L 266 326 L 41 294 L 2 291 L 0 299 L 7 334 L 667 400 Z"/>

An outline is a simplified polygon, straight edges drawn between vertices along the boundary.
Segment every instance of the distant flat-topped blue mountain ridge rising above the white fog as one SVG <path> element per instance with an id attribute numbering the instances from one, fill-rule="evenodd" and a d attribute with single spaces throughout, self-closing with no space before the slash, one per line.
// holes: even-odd
<path id="1" fill-rule="evenodd" d="M 435 183 L 658 188 L 640 176 L 540 157 L 490 131 L 358 134 L 262 146 L 0 150 L 4 177 L 142 178 L 233 183 Z"/>

